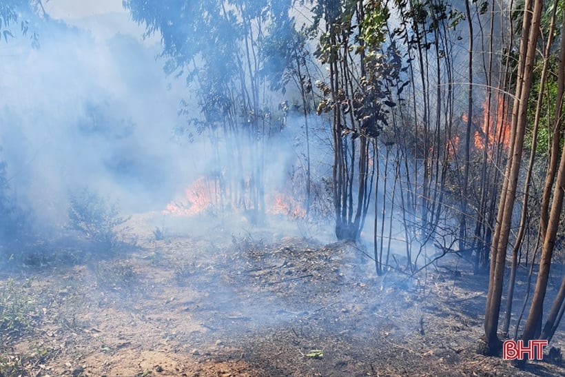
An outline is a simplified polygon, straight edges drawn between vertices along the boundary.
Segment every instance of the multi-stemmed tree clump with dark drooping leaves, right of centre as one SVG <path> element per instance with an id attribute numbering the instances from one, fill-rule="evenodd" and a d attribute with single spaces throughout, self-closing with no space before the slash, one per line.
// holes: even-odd
<path id="1" fill-rule="evenodd" d="M 400 58 L 380 54 L 389 11 L 381 1 L 322 0 L 314 3 L 314 28 L 321 28 L 314 53 L 327 65 L 318 81 L 325 98 L 318 114 L 330 115 L 333 141 L 332 191 L 338 239 L 356 240 L 367 216 L 374 179 L 376 138 L 396 105 L 387 90 L 400 72 Z"/>

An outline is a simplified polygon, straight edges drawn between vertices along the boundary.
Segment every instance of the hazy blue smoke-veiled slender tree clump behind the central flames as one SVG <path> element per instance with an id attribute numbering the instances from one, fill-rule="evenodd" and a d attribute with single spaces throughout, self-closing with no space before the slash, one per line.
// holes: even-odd
<path id="1" fill-rule="evenodd" d="M 265 153 L 271 116 L 260 41 L 287 22 L 291 1 L 125 0 L 146 34 L 161 34 L 165 72 L 185 77 L 199 114 L 185 101 L 180 128 L 205 134 L 218 169 L 214 192 L 221 207 L 237 207 L 259 220 L 265 212 Z"/>

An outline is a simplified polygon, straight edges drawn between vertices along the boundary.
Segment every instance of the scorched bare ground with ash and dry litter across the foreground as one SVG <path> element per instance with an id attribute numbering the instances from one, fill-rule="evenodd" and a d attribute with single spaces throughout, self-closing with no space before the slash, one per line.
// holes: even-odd
<path id="1" fill-rule="evenodd" d="M 565 375 L 548 360 L 520 370 L 476 353 L 487 277 L 460 258 L 418 279 L 376 277 L 348 243 L 138 233 L 136 249 L 112 258 L 59 250 L 1 276 L 29 300 L 32 323 L 1 330 L 0 375 Z M 557 334 L 552 345 L 564 344 Z"/>

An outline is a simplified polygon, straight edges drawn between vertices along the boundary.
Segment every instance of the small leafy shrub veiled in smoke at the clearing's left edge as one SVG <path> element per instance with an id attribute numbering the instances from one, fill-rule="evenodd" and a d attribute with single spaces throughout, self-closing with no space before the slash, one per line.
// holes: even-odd
<path id="1" fill-rule="evenodd" d="M 116 203 L 84 189 L 70 198 L 69 228 L 79 231 L 97 246 L 114 249 L 119 243 L 119 225 L 130 217 L 119 216 Z"/>

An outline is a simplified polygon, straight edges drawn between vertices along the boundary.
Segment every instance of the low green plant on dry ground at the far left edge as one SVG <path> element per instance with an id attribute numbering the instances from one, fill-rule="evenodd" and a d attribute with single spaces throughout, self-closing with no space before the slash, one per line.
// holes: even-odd
<path id="1" fill-rule="evenodd" d="M 13 278 L 0 288 L 0 330 L 25 331 L 32 327 L 34 298 Z"/>

